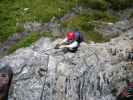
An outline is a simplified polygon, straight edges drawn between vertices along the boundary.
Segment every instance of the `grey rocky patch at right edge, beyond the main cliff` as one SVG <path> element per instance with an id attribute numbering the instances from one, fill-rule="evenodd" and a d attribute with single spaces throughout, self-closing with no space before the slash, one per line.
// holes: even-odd
<path id="1" fill-rule="evenodd" d="M 118 37 L 122 34 L 127 34 L 133 39 L 133 20 L 122 20 L 116 23 L 98 23 L 97 31 L 103 36 Z"/>

